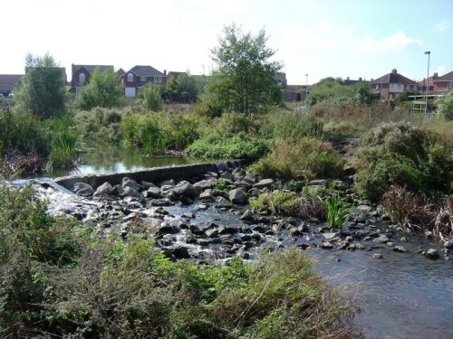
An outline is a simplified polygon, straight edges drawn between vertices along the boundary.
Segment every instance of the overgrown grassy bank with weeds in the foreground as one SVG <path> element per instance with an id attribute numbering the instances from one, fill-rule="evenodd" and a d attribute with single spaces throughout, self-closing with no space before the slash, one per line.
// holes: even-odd
<path id="1" fill-rule="evenodd" d="M 171 262 L 144 225 L 100 237 L 47 215 L 28 187 L 0 191 L 3 337 L 361 337 L 351 300 L 298 250 Z"/>

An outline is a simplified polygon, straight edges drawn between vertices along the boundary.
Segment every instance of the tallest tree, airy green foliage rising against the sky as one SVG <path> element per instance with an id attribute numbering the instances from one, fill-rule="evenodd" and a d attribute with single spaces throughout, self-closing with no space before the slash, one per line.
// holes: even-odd
<path id="1" fill-rule="evenodd" d="M 211 51 L 217 69 L 203 97 L 210 101 L 207 105 L 250 115 L 278 103 L 281 97 L 275 95 L 278 86 L 273 77 L 282 65 L 270 61 L 275 51 L 265 45 L 265 30 L 253 36 L 233 24 L 226 26 L 224 33 L 218 39 L 219 46 Z"/>

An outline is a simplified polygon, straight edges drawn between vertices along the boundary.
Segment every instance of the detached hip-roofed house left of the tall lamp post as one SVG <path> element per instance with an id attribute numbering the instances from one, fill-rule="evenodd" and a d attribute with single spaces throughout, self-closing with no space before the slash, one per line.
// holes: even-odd
<path id="1" fill-rule="evenodd" d="M 371 79 L 370 87 L 373 93 L 381 94 L 381 99 L 395 99 L 406 90 L 417 90 L 418 84 L 393 69 L 376 80 Z"/>

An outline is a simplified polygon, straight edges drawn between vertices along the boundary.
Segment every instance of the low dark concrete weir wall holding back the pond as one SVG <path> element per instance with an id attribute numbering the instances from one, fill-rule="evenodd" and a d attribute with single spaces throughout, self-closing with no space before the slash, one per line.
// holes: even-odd
<path id="1" fill-rule="evenodd" d="M 153 167 L 140 171 L 132 171 L 125 173 L 110 173 L 110 174 L 90 174 L 90 175 L 72 175 L 55 178 L 56 184 L 62 185 L 68 190 L 76 183 L 90 184 L 94 189 L 105 182 L 111 185 L 120 184 L 125 176 L 140 183 L 146 181 L 158 184 L 163 180 L 169 179 L 189 179 L 192 176 L 205 174 L 207 171 L 218 172 L 226 171 L 228 168 L 236 168 L 246 165 L 244 160 L 223 161 L 217 164 L 195 164 L 195 165 L 172 165 L 165 167 Z"/>

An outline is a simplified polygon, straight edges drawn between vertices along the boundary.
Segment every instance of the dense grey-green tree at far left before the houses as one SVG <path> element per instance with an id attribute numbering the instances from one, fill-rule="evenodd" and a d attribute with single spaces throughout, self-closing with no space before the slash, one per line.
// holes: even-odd
<path id="1" fill-rule="evenodd" d="M 25 57 L 25 74 L 14 92 L 18 108 L 37 116 L 51 118 L 63 113 L 65 93 L 64 69 L 45 54 Z"/>

